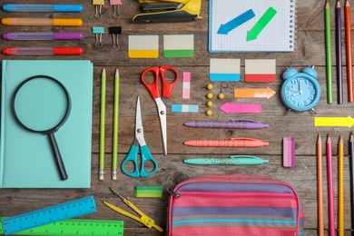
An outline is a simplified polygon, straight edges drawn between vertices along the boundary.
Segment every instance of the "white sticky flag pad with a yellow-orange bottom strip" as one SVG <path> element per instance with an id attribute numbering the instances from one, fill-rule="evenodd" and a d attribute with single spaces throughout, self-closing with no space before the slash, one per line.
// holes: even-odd
<path id="1" fill-rule="evenodd" d="M 129 58 L 158 58 L 159 35 L 129 35 Z"/>

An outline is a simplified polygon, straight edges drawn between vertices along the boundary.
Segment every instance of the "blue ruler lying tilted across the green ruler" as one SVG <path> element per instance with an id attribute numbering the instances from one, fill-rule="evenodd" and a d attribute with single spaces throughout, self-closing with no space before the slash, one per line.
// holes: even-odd
<path id="1" fill-rule="evenodd" d="M 93 196 L 89 196 L 6 218 L 2 220 L 3 230 L 5 235 L 13 234 L 56 221 L 64 221 L 84 214 L 93 213 L 95 211 L 96 206 Z"/>

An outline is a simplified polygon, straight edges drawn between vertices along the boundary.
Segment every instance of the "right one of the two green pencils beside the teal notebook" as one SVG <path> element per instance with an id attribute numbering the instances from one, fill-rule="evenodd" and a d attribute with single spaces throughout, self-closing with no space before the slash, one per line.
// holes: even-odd
<path id="1" fill-rule="evenodd" d="M 117 155 L 118 155 L 118 115 L 119 115 L 119 83 L 118 69 L 114 74 L 114 111 L 113 111 L 113 151 L 112 151 L 112 179 L 117 179 Z"/>

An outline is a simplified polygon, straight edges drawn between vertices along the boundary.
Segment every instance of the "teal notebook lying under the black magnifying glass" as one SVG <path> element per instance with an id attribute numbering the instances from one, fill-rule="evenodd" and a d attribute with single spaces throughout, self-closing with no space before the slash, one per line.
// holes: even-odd
<path id="1" fill-rule="evenodd" d="M 90 188 L 93 64 L 84 60 L 3 60 L 2 73 L 0 188 Z M 16 87 L 38 74 L 55 78 L 70 95 L 70 113 L 54 133 L 68 175 L 65 181 L 47 135 L 25 130 L 12 113 Z M 43 91 L 48 90 L 43 86 Z"/>

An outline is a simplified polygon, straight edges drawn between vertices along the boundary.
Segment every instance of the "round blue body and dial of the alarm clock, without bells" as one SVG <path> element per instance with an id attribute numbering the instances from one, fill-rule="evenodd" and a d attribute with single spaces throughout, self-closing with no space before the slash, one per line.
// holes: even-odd
<path id="1" fill-rule="evenodd" d="M 306 76 L 286 79 L 281 87 L 281 99 L 291 110 L 310 110 L 320 100 L 320 84 L 316 79 Z"/>

